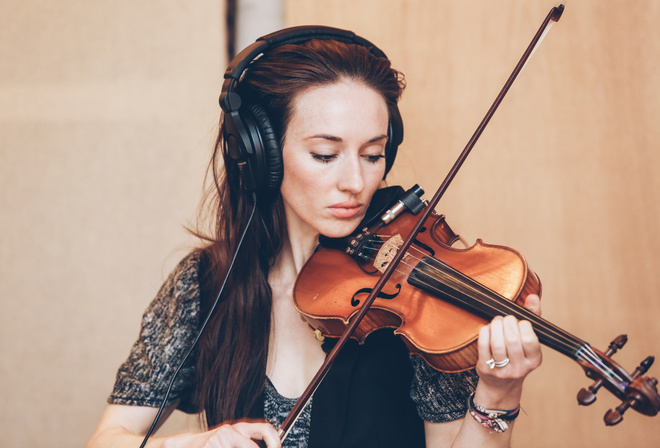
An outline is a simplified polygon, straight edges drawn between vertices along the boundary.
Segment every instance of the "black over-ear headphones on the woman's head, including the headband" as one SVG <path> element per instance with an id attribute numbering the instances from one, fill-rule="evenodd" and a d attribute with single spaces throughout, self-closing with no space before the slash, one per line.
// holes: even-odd
<path id="1" fill-rule="evenodd" d="M 236 161 L 247 191 L 276 190 L 282 182 L 282 149 L 271 121 L 259 104 L 244 102 L 235 91 L 243 72 L 266 51 L 286 44 L 311 39 L 329 39 L 357 44 L 369 49 L 377 57 L 385 53 L 366 39 L 351 31 L 324 26 L 298 26 L 286 28 L 260 37 L 230 62 L 220 94 L 220 107 L 224 117 L 224 143 L 229 156 Z M 385 175 L 392 168 L 398 146 L 403 141 L 403 122 L 398 107 L 390 112 L 388 141 L 385 146 Z"/>

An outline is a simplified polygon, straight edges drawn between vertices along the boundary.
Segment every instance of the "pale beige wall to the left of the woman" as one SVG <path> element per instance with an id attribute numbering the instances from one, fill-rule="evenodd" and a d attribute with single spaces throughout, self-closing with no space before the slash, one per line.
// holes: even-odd
<path id="1" fill-rule="evenodd" d="M 0 446 L 94 429 L 190 243 L 223 23 L 209 0 L 2 1 Z"/>

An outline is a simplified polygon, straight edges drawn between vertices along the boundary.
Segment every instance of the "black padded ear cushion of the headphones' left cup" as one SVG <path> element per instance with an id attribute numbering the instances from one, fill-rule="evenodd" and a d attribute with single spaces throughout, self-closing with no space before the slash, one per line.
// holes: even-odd
<path id="1" fill-rule="evenodd" d="M 262 143 L 262 154 L 255 154 L 255 157 L 261 159 L 261 163 L 258 165 L 263 167 L 263 172 L 255 173 L 255 176 L 261 177 L 261 179 L 257 179 L 257 183 L 263 185 L 265 189 L 276 190 L 282 183 L 284 175 L 280 141 L 268 114 L 260 105 L 251 104 L 247 109 L 254 120 Z"/>

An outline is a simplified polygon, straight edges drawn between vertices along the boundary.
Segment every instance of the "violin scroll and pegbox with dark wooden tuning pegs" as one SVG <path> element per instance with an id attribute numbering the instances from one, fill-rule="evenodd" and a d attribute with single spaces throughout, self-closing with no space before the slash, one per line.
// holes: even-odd
<path id="1" fill-rule="evenodd" d="M 602 366 L 605 368 L 593 369 L 593 364 L 589 368 L 583 365 L 587 376 L 596 378 L 596 381 L 588 388 L 583 388 L 578 392 L 577 399 L 580 405 L 588 406 L 595 402 L 596 393 L 603 385 L 621 399 L 619 406 L 605 413 L 604 420 L 607 426 L 620 423 L 623 420 L 623 414 L 631 407 L 637 412 L 649 416 L 654 416 L 660 412 L 658 380 L 643 376 L 653 365 L 655 358 L 653 356 L 647 357 L 632 375 L 628 375 L 625 370 L 610 359 L 610 356 L 621 349 L 627 340 L 626 335 L 620 335 L 610 343 L 607 352 L 600 357 L 600 361 L 606 364 L 606 366 Z M 601 376 L 600 373 L 604 374 Z"/>

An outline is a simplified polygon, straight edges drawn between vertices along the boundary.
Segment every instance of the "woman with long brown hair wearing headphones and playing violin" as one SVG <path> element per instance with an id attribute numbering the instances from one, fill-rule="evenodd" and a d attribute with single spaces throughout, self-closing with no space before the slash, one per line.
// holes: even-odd
<path id="1" fill-rule="evenodd" d="M 403 81 L 389 60 L 360 38 L 312 39 L 317 31 L 304 30 L 302 41 L 298 31 L 284 31 L 284 43 L 277 34 L 278 43 L 260 57 L 246 60 L 244 52 L 230 65 L 211 163 L 214 234 L 179 264 L 145 312 L 90 448 L 139 446 L 246 228 L 217 309 L 165 412 L 204 412 L 210 429 L 152 438 L 147 446 L 254 447 L 253 440 L 280 446 L 274 426 L 332 345 L 314 338 L 300 318 L 294 282 L 319 235 L 346 236 L 365 217 L 402 132 Z M 243 138 L 263 146 L 263 160 L 251 160 L 254 148 L 236 141 Z M 538 312 L 538 297 L 526 306 Z M 508 316 L 481 331 L 478 347 L 477 382 L 474 371 L 443 374 L 409 357 L 391 331 L 369 336 L 363 346 L 349 344 L 284 446 L 508 446 L 511 430 L 502 431 L 501 423 L 510 426 L 517 415 L 523 380 L 541 362 L 540 346 L 528 322 Z M 502 420 L 484 408 L 503 410 Z"/>

